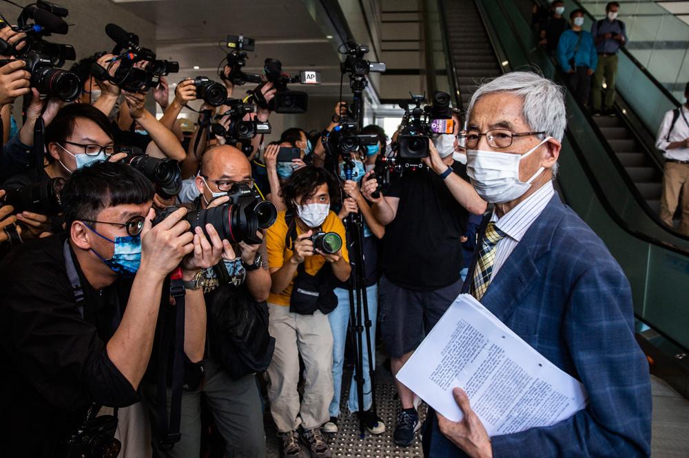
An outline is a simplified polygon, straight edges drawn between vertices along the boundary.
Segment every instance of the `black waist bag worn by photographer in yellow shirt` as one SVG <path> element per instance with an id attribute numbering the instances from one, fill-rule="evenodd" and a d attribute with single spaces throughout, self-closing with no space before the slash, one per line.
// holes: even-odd
<path id="1" fill-rule="evenodd" d="M 297 238 L 294 216 L 287 214 L 285 220 L 287 222 L 285 246 L 294 246 Z M 313 315 L 316 310 L 320 310 L 324 315 L 329 314 L 338 306 L 338 297 L 334 291 L 337 285 L 338 280 L 330 265 L 324 265 L 316 272 L 316 275 L 311 275 L 306 272 L 304 263 L 300 263 L 297 276 L 294 277 L 292 283 L 289 311 L 300 315 Z"/>

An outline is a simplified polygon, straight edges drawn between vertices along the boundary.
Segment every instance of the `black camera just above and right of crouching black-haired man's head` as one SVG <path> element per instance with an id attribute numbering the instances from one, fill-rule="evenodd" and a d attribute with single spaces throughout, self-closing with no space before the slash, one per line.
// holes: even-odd
<path id="1" fill-rule="evenodd" d="M 119 146 L 117 152 L 127 154 L 122 162 L 130 164 L 150 179 L 163 199 L 178 195 L 182 190 L 182 171 L 176 160 L 150 157 L 136 146 Z"/>

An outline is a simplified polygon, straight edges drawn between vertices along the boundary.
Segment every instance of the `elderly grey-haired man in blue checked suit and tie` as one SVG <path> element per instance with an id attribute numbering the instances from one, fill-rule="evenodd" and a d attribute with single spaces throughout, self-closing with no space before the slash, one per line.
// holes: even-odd
<path id="1" fill-rule="evenodd" d="M 489 437 L 455 388 L 464 419 L 430 411 L 426 456 L 650 455 L 650 378 L 629 283 L 553 190 L 566 127 L 562 88 L 533 73 L 505 74 L 473 94 L 468 119 L 467 171 L 495 209 L 480 228 L 464 292 L 580 380 L 589 402 L 553 426 Z"/>

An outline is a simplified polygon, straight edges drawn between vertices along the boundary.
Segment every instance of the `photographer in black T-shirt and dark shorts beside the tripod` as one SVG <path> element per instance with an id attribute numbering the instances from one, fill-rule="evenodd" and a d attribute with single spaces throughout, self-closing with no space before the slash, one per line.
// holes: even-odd
<path id="1" fill-rule="evenodd" d="M 460 236 L 469 212 L 478 215 L 486 210 L 486 202 L 468 182 L 465 166 L 453 160 L 451 139 L 442 144 L 439 152 L 429 142 L 425 167 L 405 171 L 378 197 L 372 196 L 376 179 L 367 180 L 362 188 L 364 197 L 373 202 L 373 215 L 386 225 L 378 287 L 380 329 L 393 374 L 460 293 Z M 396 384 L 402 407 L 394 440 L 410 446 L 419 427 L 414 395 Z"/>

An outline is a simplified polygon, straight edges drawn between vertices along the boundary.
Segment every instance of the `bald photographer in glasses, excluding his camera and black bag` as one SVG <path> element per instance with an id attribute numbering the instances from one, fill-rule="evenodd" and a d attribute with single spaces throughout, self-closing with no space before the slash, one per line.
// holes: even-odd
<path id="1" fill-rule="evenodd" d="M 227 204 L 227 190 L 236 183 L 251 185 L 251 166 L 247 157 L 234 146 L 214 146 L 203 156 L 200 175 L 196 186 L 200 196 L 194 201 L 194 210 L 213 208 Z M 260 232 L 257 234 L 259 237 Z M 263 302 L 270 290 L 270 274 L 267 265 L 265 243 L 249 245 L 241 242 L 232 246 L 224 242 L 223 261 L 204 270 L 203 290 L 206 293 L 207 307 L 240 307 L 240 301 Z M 233 274 L 234 272 L 234 274 Z M 223 280 L 227 275 L 228 280 Z M 247 295 L 251 296 L 247 299 Z M 254 304 L 258 305 L 258 304 Z M 263 303 L 265 307 L 265 303 Z M 213 414 L 216 428 L 225 439 L 225 452 L 228 457 L 263 457 L 265 455 L 265 433 L 263 430 L 263 405 L 256 384 L 255 371 L 237 375 L 226 369 L 227 361 L 218 340 L 225 336 L 215 335 L 218 331 L 212 318 L 216 316 L 208 310 L 209 351 L 203 360 L 205 380 L 196 391 L 183 391 L 181 441 L 171 450 L 161 448 L 156 440 L 154 422 L 154 448 L 161 457 L 198 457 L 201 446 L 201 424 L 198 422 L 201 402 L 205 402 Z M 248 321 L 248 318 L 247 318 Z M 243 324 L 246 326 L 246 324 Z M 267 331 L 267 329 L 266 329 Z M 266 333 L 267 334 L 267 333 Z M 253 336 L 253 334 L 252 334 Z M 247 342 L 258 345 L 258 342 Z M 236 351 L 236 350 L 235 350 Z M 145 386 L 146 402 L 152 417 L 157 414 L 156 386 Z M 168 390 L 168 399 L 171 391 Z"/>

